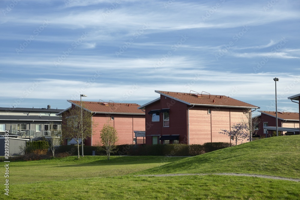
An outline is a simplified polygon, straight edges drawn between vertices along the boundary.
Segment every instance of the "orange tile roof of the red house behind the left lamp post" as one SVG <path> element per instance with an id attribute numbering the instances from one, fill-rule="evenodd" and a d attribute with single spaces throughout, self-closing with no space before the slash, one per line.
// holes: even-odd
<path id="1" fill-rule="evenodd" d="M 80 106 L 80 101 L 68 100 L 68 102 Z M 94 102 L 94 101 L 82 101 L 82 106 L 91 112 L 101 113 L 121 113 L 121 114 L 136 114 L 145 115 L 145 112 L 141 109 L 137 109 L 139 104 L 136 103 L 113 103 L 113 102 Z"/>

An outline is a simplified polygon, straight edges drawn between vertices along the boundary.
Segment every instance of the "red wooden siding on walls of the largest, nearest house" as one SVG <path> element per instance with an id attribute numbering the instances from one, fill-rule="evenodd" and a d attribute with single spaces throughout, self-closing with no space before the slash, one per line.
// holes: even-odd
<path id="1" fill-rule="evenodd" d="M 191 107 L 163 95 L 158 102 L 146 106 L 146 144 L 152 144 L 152 136 L 163 135 L 179 135 L 179 142 L 183 144 L 187 144 L 188 139 L 190 144 L 233 143 L 228 136 L 219 132 L 221 129 L 230 130 L 233 124 L 243 123 L 247 120 L 242 108 Z M 152 122 L 152 115 L 149 115 L 148 112 L 166 108 L 170 108 L 170 127 L 163 126 L 163 113 L 160 114 L 159 122 Z M 187 119 L 188 109 L 189 121 Z M 208 109 L 211 109 L 211 114 L 208 114 Z M 187 124 L 189 124 L 189 128 Z M 246 142 L 246 140 L 238 143 L 241 142 Z"/>

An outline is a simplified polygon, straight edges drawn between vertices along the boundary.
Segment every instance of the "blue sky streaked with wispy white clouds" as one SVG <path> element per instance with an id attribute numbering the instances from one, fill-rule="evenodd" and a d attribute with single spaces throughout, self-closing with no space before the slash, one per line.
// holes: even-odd
<path id="1" fill-rule="evenodd" d="M 300 2 L 2 0 L 1 107 L 145 104 L 155 90 L 298 112 Z"/>

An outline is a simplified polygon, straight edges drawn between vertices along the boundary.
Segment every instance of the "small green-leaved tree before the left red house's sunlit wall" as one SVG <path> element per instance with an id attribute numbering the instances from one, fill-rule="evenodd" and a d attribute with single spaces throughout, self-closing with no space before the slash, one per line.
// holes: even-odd
<path id="1" fill-rule="evenodd" d="M 100 149 L 106 152 L 107 160 L 110 160 L 110 154 L 116 152 L 117 131 L 107 122 L 100 132 L 101 144 L 103 145 Z"/>

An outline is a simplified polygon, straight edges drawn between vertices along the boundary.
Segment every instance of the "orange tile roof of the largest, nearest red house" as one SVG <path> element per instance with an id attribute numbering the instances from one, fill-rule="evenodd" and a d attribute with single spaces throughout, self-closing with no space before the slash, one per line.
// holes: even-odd
<path id="1" fill-rule="evenodd" d="M 259 108 L 257 106 L 233 99 L 223 95 L 210 95 L 210 94 L 195 94 L 195 93 L 182 93 L 182 92 L 167 92 L 155 91 L 158 94 L 179 100 L 189 105 L 203 105 L 203 106 L 220 106 L 220 107 L 238 107 L 238 108 Z"/>

